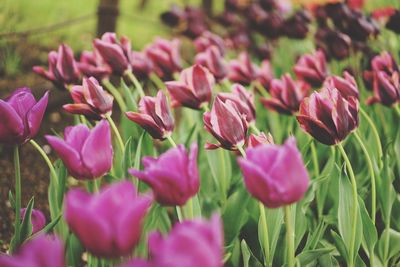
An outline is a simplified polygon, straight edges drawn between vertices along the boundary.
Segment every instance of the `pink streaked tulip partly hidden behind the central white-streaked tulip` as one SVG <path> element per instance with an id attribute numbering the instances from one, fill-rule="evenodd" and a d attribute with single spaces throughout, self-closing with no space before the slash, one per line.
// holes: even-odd
<path id="1" fill-rule="evenodd" d="M 232 93 L 219 93 L 217 97 L 223 102 L 232 101 L 239 113 L 246 118 L 246 121 L 249 124 L 254 123 L 256 121 L 256 107 L 253 93 L 237 83 L 231 86 L 231 91 Z"/>

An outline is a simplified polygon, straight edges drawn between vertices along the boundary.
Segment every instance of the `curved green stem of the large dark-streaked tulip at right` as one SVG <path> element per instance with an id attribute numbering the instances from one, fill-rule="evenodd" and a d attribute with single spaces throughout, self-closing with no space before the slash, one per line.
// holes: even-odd
<path id="1" fill-rule="evenodd" d="M 351 187 L 353 191 L 353 210 L 352 210 L 352 225 L 351 225 L 351 239 L 350 239 L 350 248 L 349 248 L 349 255 L 350 255 L 350 265 L 349 267 L 354 267 L 354 250 L 355 250 L 355 243 L 356 243 L 356 230 L 357 230 L 357 212 L 358 212 L 358 196 L 357 196 L 357 182 L 356 177 L 354 175 L 353 168 L 351 166 L 350 160 L 347 157 L 346 151 L 344 150 L 342 144 L 338 144 L 337 147 L 339 148 L 340 153 L 346 163 L 346 168 L 350 176 Z"/>

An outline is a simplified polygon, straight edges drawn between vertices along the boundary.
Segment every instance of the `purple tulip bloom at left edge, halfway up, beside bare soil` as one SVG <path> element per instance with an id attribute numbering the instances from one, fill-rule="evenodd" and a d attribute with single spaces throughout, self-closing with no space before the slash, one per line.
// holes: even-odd
<path id="1" fill-rule="evenodd" d="M 0 99 L 0 143 L 23 144 L 39 132 L 49 94 L 36 102 L 29 88 L 19 88 Z"/>

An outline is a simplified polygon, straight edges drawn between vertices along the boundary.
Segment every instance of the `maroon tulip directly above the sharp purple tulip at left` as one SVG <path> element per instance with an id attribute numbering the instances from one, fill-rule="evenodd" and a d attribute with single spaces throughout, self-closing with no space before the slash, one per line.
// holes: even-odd
<path id="1" fill-rule="evenodd" d="M 94 77 L 83 78 L 82 85 L 73 86 L 71 96 L 74 104 L 64 105 L 63 108 L 72 114 L 99 120 L 112 112 L 114 97 L 104 91 Z"/>

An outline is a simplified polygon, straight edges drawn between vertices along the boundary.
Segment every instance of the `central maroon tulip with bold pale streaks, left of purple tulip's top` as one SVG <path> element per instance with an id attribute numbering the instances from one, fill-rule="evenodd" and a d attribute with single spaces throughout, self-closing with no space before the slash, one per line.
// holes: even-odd
<path id="1" fill-rule="evenodd" d="M 236 150 L 245 143 L 248 123 L 231 100 L 225 102 L 217 97 L 211 112 L 205 112 L 203 122 L 206 130 L 211 133 L 219 144 L 206 144 L 207 149 L 223 147 Z"/>

